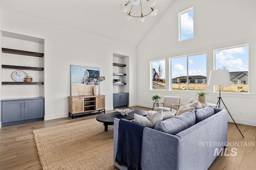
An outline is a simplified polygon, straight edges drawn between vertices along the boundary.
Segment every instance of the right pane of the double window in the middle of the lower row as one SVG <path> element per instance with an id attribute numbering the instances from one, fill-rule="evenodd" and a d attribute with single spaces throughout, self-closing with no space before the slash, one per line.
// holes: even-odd
<path id="1" fill-rule="evenodd" d="M 188 57 L 188 89 L 206 90 L 206 54 Z"/>

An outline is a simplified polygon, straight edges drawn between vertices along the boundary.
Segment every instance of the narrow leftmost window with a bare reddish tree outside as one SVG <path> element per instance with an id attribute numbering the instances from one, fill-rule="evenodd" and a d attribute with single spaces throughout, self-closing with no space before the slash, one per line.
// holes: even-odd
<path id="1" fill-rule="evenodd" d="M 165 90 L 165 61 L 152 63 L 152 90 Z"/>

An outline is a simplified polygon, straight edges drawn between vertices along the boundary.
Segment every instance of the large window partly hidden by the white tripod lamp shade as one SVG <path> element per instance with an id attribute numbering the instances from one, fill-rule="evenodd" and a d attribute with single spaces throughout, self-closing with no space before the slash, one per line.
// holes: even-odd
<path id="1" fill-rule="evenodd" d="M 221 86 L 223 92 L 249 92 L 248 45 L 218 49 L 215 54 L 215 69 L 228 69 L 230 86 Z M 216 86 L 219 91 L 219 86 Z"/>

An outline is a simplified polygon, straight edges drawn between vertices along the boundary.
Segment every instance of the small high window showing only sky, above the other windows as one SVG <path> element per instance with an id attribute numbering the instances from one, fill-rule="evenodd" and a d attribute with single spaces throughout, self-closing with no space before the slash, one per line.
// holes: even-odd
<path id="1" fill-rule="evenodd" d="M 194 37 L 193 8 L 179 13 L 179 41 Z"/>

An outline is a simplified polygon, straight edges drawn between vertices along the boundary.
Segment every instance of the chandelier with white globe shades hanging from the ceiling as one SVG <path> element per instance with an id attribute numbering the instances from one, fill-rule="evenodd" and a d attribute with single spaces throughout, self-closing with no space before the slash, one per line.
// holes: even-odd
<path id="1" fill-rule="evenodd" d="M 126 20 L 131 20 L 132 17 L 137 17 L 140 21 L 144 22 L 146 20 L 145 16 L 148 16 L 149 14 L 150 16 L 156 16 L 158 11 L 157 9 L 154 9 L 156 1 L 157 0 L 128 0 L 126 4 L 120 4 L 120 10 L 128 14 L 126 15 Z M 140 4 L 140 6 L 137 6 L 138 4 Z M 142 12 L 142 6 L 144 12 Z"/>

